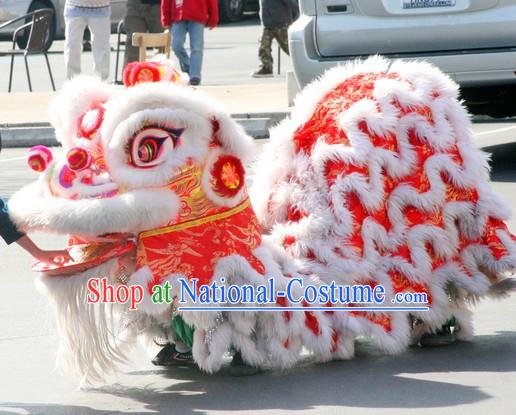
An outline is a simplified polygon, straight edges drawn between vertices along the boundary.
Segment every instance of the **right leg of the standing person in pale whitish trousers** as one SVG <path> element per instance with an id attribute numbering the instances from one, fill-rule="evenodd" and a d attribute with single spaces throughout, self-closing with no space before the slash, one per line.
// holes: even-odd
<path id="1" fill-rule="evenodd" d="M 109 16 L 91 17 L 88 19 L 88 26 L 91 32 L 95 73 L 100 76 L 100 79 L 105 81 L 109 76 L 111 21 Z"/>

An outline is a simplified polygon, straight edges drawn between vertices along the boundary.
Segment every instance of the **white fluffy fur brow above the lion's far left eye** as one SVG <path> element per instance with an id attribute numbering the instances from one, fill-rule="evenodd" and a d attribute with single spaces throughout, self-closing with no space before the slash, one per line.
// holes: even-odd
<path id="1" fill-rule="evenodd" d="M 90 110 L 101 108 L 117 90 L 100 80 L 79 76 L 66 82 L 49 107 L 50 123 L 55 129 L 57 140 L 64 147 L 72 147 L 81 136 L 81 119 Z"/>

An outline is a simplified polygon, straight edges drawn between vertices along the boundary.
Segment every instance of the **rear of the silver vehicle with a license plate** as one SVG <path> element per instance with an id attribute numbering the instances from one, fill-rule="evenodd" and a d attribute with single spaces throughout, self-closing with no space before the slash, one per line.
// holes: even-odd
<path id="1" fill-rule="evenodd" d="M 516 0 L 300 0 L 290 27 L 303 87 L 357 57 L 425 59 L 462 86 L 516 84 Z"/>

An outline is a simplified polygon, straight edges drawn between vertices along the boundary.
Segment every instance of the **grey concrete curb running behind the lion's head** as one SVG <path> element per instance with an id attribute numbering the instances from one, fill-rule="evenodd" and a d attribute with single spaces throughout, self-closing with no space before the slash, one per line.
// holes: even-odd
<path id="1" fill-rule="evenodd" d="M 269 129 L 287 117 L 288 112 L 231 114 L 247 134 L 255 139 L 268 138 Z M 1 145 L 4 148 L 58 146 L 54 129 L 49 123 L 0 124 Z"/>

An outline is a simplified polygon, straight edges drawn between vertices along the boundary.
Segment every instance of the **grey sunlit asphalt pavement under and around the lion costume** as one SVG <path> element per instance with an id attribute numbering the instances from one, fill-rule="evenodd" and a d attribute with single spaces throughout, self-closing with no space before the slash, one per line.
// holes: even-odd
<path id="1" fill-rule="evenodd" d="M 476 123 L 478 145 L 492 153 L 495 190 L 516 207 L 516 122 Z M 261 140 L 259 145 L 263 144 Z M 26 150 L 0 154 L 0 194 L 10 195 L 36 174 Z M 509 222 L 516 231 L 516 220 Z M 61 238 L 35 235 L 42 246 Z M 0 414 L 514 414 L 516 296 L 475 307 L 471 343 L 412 348 L 383 356 L 367 343 L 352 361 L 234 378 L 194 367 L 160 369 L 157 351 L 137 346 L 130 364 L 103 385 L 78 390 L 54 371 L 52 310 L 36 292 L 32 260 L 16 246 L 0 247 Z"/>

